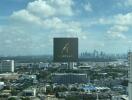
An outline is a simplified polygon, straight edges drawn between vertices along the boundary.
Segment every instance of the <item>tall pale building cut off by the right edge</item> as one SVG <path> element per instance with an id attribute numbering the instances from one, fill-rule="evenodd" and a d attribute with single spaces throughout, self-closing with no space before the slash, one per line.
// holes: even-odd
<path id="1" fill-rule="evenodd" d="M 132 100 L 132 52 L 128 53 L 128 61 L 129 61 L 129 70 L 128 70 L 128 95 L 129 100 Z"/>

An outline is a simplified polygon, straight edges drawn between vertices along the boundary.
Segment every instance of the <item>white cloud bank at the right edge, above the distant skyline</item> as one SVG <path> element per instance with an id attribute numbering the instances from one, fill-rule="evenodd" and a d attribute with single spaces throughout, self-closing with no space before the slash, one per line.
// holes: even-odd
<path id="1" fill-rule="evenodd" d="M 109 25 L 106 36 L 109 39 L 127 39 L 126 33 L 132 27 L 132 13 L 117 14 L 108 18 L 100 18 L 98 24 Z"/>

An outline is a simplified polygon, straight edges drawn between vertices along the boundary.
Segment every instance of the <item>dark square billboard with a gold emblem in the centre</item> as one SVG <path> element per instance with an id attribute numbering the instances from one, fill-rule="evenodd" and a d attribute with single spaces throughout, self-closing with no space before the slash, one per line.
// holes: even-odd
<path id="1" fill-rule="evenodd" d="M 78 38 L 54 38 L 54 62 L 76 62 L 78 60 Z"/>

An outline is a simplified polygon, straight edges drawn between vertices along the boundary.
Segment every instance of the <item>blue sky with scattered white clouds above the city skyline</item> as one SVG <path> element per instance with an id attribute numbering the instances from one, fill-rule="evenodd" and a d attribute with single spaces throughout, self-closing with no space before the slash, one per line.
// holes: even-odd
<path id="1" fill-rule="evenodd" d="M 54 37 L 78 37 L 79 52 L 127 53 L 132 0 L 0 0 L 0 55 L 53 54 Z"/>

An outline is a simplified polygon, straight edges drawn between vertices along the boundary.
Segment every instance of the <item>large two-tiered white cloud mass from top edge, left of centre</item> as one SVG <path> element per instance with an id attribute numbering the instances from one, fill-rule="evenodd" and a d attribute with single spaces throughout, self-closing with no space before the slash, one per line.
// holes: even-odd
<path id="1" fill-rule="evenodd" d="M 30 2 L 27 9 L 14 12 L 11 20 L 20 27 L 31 25 L 42 29 L 50 29 L 58 33 L 75 33 L 81 32 L 79 22 L 64 21 L 56 15 L 72 15 L 72 0 L 39 0 Z"/>

